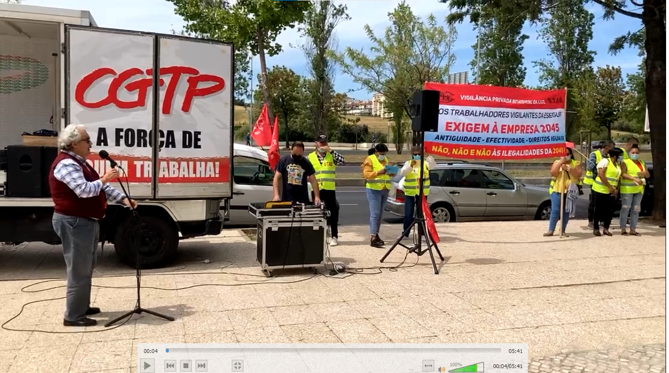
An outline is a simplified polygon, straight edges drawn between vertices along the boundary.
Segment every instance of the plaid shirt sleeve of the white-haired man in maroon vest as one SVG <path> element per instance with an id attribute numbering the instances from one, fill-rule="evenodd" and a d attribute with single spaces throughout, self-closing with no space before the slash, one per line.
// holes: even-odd
<path id="1" fill-rule="evenodd" d="M 92 168 L 92 166 L 78 154 L 68 152 L 67 150 L 62 150 L 62 152 L 74 156 L 79 162 Z M 120 203 L 125 198 L 123 193 L 114 189 L 111 184 L 102 185 L 102 180 L 86 181 L 81 165 L 74 159 L 66 158 L 58 162 L 56 168 L 54 168 L 54 176 L 56 176 L 56 180 L 62 181 L 70 187 L 74 194 L 79 198 L 95 197 L 100 195 L 100 191 L 104 191 L 108 201 L 112 201 L 113 203 Z"/>

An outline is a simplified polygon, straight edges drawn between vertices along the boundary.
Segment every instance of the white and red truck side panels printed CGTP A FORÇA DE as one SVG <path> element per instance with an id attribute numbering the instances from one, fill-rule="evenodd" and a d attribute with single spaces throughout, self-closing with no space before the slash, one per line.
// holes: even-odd
<path id="1" fill-rule="evenodd" d="M 230 188 L 231 45 L 121 31 L 69 33 L 69 122 L 86 126 L 98 173 L 109 167 L 97 156 L 104 149 L 127 182 L 151 183 L 157 167 L 158 184 L 181 185 L 159 188 L 161 195 Z M 197 188 L 186 192 L 189 184 Z"/>

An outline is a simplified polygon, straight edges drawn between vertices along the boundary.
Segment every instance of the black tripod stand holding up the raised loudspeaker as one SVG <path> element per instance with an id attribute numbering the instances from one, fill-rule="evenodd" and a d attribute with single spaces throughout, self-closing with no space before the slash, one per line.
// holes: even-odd
<path id="1" fill-rule="evenodd" d="M 387 253 L 383 255 L 381 258 L 381 263 L 385 260 L 385 258 L 390 255 L 390 253 L 393 252 L 395 247 L 401 246 L 404 247 L 409 251 L 409 253 L 415 253 L 419 257 L 422 256 L 424 253 L 429 253 L 429 259 L 432 260 L 432 269 L 434 270 L 434 274 L 438 275 L 439 274 L 439 269 L 437 268 L 437 263 L 434 260 L 434 253 L 432 252 L 432 249 L 434 248 L 437 251 L 437 254 L 439 255 L 439 259 L 444 261 L 444 255 L 442 255 L 442 252 L 439 251 L 439 247 L 437 246 L 437 243 L 432 240 L 432 237 L 429 237 L 429 233 L 427 231 L 427 221 L 425 221 L 425 216 L 423 215 L 423 196 L 425 193 L 423 193 L 423 179 L 424 179 L 424 174 L 425 174 L 425 150 L 423 149 L 423 144 L 425 143 L 425 132 L 419 131 L 420 133 L 420 174 L 418 176 L 418 194 L 415 196 L 415 217 L 413 218 L 413 222 L 405 231 L 402 233 L 401 236 L 393 243 L 393 246 L 390 247 Z M 429 177 L 429 176 L 427 176 Z M 411 198 L 414 198 L 413 196 Z M 405 201 L 406 203 L 406 201 Z M 429 213 L 429 211 L 427 211 Z M 411 232 L 411 229 L 413 227 L 416 228 L 416 233 L 417 233 L 417 240 L 415 242 L 415 245 L 412 247 L 409 247 L 405 244 L 402 243 L 402 240 L 404 237 L 407 237 L 409 235 L 409 232 Z M 425 249 L 423 249 L 422 244 L 423 240 L 425 240 Z"/>

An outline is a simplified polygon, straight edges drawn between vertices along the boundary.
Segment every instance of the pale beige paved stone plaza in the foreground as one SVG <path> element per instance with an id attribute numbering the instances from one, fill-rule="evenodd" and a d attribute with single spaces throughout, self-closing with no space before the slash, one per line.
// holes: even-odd
<path id="1" fill-rule="evenodd" d="M 541 221 L 440 225 L 440 275 L 429 255 L 416 265 L 409 255 L 411 267 L 378 275 L 276 271 L 266 279 L 241 231 L 182 241 L 173 267 L 142 273 L 142 306 L 174 322 L 142 315 L 113 330 L 47 334 L 37 330 L 76 331 L 62 326 L 64 300 L 32 303 L 7 324 L 26 331 L 0 330 L 0 372 L 137 372 L 136 345 L 145 342 L 519 342 L 529 344 L 530 372 L 666 371 L 665 230 L 593 237 L 582 221 L 569 225 L 566 239 L 542 237 Z M 381 236 L 389 242 L 399 229 L 384 225 Z M 385 250 L 366 245 L 368 237 L 367 227 L 343 227 L 332 260 L 381 264 Z M 24 303 L 64 296 L 62 279 L 21 291 L 64 275 L 60 250 L 0 245 L 0 322 Z M 100 324 L 135 303 L 134 271 L 113 251 L 105 247 L 94 279 Z M 397 249 L 383 265 L 403 258 Z"/>

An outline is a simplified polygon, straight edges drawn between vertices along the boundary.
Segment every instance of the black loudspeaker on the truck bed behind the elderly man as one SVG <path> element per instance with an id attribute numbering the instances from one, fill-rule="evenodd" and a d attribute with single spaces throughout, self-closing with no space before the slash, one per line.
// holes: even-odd
<path id="1" fill-rule="evenodd" d="M 51 197 L 49 172 L 58 156 L 53 146 L 7 146 L 7 197 Z"/>

